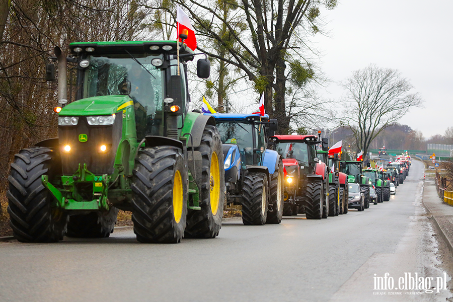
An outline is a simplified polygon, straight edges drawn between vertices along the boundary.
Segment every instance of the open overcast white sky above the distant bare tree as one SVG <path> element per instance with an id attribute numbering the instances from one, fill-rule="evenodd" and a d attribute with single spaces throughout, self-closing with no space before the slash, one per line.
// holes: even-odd
<path id="1" fill-rule="evenodd" d="M 343 81 L 370 63 L 398 69 L 424 100 L 424 108 L 399 122 L 425 137 L 453 126 L 453 1 L 339 0 L 322 13 L 330 37 L 315 41 L 330 80 Z M 345 94 L 335 83 L 320 93 L 334 100 Z"/>

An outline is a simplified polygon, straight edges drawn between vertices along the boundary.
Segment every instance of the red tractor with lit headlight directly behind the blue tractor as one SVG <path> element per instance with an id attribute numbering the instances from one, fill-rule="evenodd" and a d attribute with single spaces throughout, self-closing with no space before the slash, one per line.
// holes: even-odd
<path id="1" fill-rule="evenodd" d="M 305 212 L 307 219 L 327 218 L 329 177 L 327 165 L 316 154 L 316 135 L 274 135 L 271 148 L 283 159 L 285 190 L 283 215 Z"/>

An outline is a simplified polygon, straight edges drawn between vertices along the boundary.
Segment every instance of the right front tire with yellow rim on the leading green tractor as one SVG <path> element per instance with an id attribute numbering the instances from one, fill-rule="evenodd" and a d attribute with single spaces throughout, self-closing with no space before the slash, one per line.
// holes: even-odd
<path id="1" fill-rule="evenodd" d="M 187 170 L 174 146 L 138 151 L 132 176 L 132 221 L 143 243 L 178 243 L 187 215 Z"/>

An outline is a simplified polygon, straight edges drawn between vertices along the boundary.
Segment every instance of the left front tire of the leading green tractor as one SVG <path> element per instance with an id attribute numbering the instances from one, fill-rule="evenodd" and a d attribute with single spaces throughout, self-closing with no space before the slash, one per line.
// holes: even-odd
<path id="1" fill-rule="evenodd" d="M 67 214 L 52 208 L 53 197 L 42 184 L 61 173 L 58 152 L 45 147 L 20 150 L 11 164 L 7 191 L 14 237 L 20 242 L 58 242 L 66 232 Z"/>

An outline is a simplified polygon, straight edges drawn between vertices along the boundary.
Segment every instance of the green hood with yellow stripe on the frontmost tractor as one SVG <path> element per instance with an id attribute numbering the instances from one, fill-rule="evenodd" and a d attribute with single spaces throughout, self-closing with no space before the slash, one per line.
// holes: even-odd
<path id="1" fill-rule="evenodd" d="M 112 115 L 130 105 L 133 105 L 133 101 L 129 96 L 99 96 L 72 102 L 64 106 L 59 115 Z"/>

